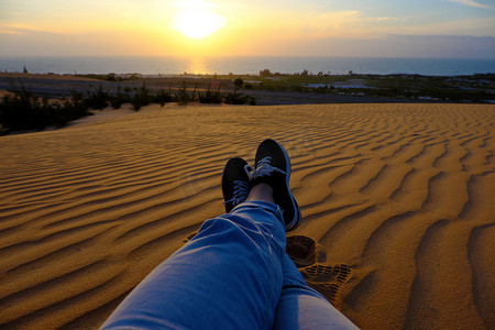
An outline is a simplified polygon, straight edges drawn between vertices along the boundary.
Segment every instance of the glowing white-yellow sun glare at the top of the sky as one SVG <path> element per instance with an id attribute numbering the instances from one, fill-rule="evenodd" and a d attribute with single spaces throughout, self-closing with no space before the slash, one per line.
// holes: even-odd
<path id="1" fill-rule="evenodd" d="M 211 10 L 211 4 L 201 0 L 183 0 L 172 21 L 172 28 L 190 38 L 204 38 L 219 31 L 226 19 Z"/>

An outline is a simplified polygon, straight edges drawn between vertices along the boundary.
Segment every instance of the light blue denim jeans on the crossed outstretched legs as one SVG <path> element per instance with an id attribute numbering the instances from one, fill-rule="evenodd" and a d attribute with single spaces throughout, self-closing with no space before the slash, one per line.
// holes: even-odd
<path id="1" fill-rule="evenodd" d="M 278 206 L 243 202 L 207 220 L 102 329 L 358 329 L 306 285 L 285 244 Z"/>

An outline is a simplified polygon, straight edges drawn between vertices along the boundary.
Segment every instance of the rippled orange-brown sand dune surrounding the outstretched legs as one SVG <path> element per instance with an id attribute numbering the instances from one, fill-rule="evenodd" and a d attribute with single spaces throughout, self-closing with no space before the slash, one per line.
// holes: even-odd
<path id="1" fill-rule="evenodd" d="M 351 320 L 494 329 L 494 106 L 169 106 L 2 136 L 0 327 L 97 328 L 222 212 L 226 161 L 273 138 L 304 216 L 290 234 L 351 277 L 306 272 L 345 282 Z"/>

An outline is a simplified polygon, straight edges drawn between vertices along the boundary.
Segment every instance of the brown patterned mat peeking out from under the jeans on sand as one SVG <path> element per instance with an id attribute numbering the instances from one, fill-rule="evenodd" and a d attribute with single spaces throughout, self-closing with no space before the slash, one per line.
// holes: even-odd
<path id="1" fill-rule="evenodd" d="M 184 239 L 184 242 L 190 241 L 195 235 L 196 232 L 190 233 Z M 340 309 L 340 289 L 351 278 L 351 268 L 344 264 L 327 264 L 324 249 L 308 237 L 287 237 L 286 251 L 306 284 L 323 295 L 337 309 Z"/>

